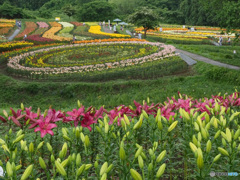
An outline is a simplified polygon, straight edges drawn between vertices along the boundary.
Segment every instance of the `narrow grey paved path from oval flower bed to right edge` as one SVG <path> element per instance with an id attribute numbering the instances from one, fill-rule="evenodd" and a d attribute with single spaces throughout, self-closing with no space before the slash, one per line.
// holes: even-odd
<path id="1" fill-rule="evenodd" d="M 205 62 L 205 63 L 208 63 L 208 64 L 212 64 L 212 65 L 220 66 L 220 67 L 225 67 L 225 68 L 228 68 L 228 69 L 240 70 L 240 67 L 238 67 L 238 66 L 233 66 L 233 65 L 221 63 L 221 62 L 218 62 L 218 61 L 214 61 L 212 59 L 209 59 L 209 58 L 197 55 L 197 54 L 193 54 L 193 53 L 190 53 L 190 52 L 187 52 L 187 51 L 183 51 L 183 50 L 180 50 L 180 49 L 176 49 L 176 52 L 177 53 L 182 53 L 182 54 L 184 54 L 184 55 L 186 55 L 186 56 L 188 56 L 192 59 L 195 59 L 197 61 L 202 61 L 202 62 Z"/>

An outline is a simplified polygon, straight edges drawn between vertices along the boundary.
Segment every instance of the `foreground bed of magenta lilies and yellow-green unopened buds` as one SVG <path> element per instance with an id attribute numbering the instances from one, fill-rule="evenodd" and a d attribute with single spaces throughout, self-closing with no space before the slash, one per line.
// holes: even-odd
<path id="1" fill-rule="evenodd" d="M 239 93 L 198 100 L 3 111 L 0 166 L 8 179 L 208 179 L 240 165 Z M 33 130 L 34 129 L 34 130 Z M 16 152 L 17 151 L 17 152 Z"/>

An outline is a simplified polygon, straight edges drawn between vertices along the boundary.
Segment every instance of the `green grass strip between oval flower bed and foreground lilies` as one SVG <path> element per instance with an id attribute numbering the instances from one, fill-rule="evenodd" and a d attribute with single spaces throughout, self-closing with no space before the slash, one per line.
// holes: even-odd
<path id="1" fill-rule="evenodd" d="M 216 73 L 219 76 L 212 75 Z M 19 107 L 21 102 L 25 107 L 33 106 L 33 109 L 45 109 L 49 106 L 69 109 L 77 108 L 77 100 L 85 106 L 105 105 L 106 108 L 121 104 L 133 105 L 133 100 L 142 102 L 147 97 L 158 103 L 165 101 L 167 97 L 177 96 L 178 91 L 194 98 L 210 98 L 219 92 L 230 94 L 235 89 L 240 89 L 240 80 L 236 82 L 234 74 L 239 76 L 237 71 L 225 71 L 202 62 L 198 62 L 187 75 L 104 83 L 29 82 L 1 74 L 0 102 L 1 107 L 6 109 Z M 231 77 L 233 79 L 230 79 Z"/>

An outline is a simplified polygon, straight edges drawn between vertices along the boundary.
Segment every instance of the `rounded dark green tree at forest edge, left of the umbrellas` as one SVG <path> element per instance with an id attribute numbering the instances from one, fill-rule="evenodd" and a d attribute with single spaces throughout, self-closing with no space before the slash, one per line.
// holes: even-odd
<path id="1" fill-rule="evenodd" d="M 79 21 L 107 21 L 114 18 L 113 6 L 105 1 L 93 1 L 83 4 L 78 11 Z"/>

